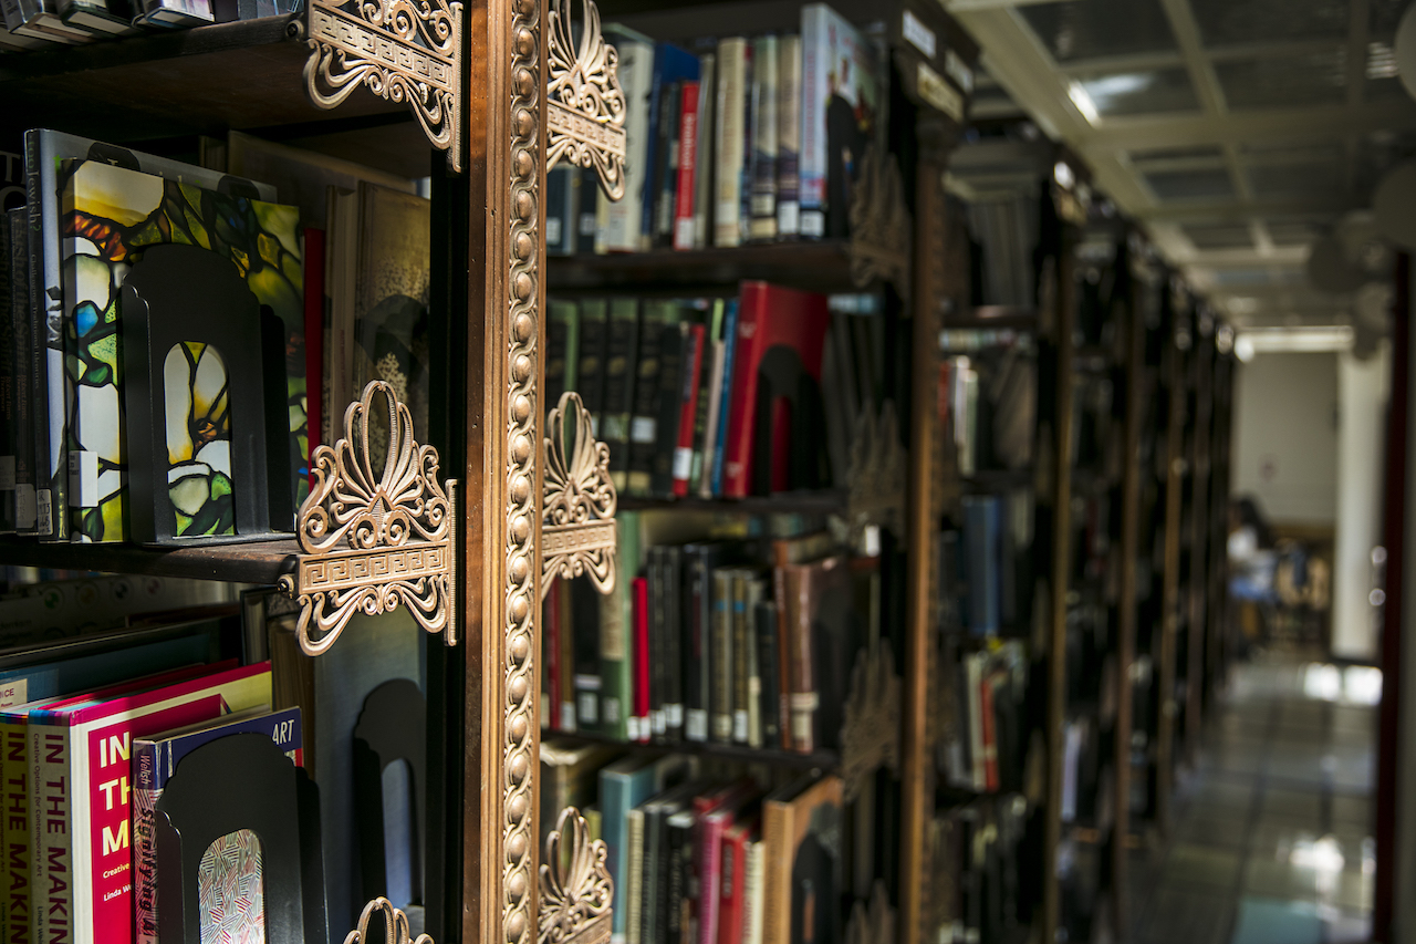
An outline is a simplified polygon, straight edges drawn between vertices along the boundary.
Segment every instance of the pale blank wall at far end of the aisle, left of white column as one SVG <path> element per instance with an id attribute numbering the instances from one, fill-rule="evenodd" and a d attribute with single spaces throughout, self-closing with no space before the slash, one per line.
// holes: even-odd
<path id="1" fill-rule="evenodd" d="M 1337 517 L 1337 354 L 1259 353 L 1235 376 L 1233 495 L 1279 524 Z"/>

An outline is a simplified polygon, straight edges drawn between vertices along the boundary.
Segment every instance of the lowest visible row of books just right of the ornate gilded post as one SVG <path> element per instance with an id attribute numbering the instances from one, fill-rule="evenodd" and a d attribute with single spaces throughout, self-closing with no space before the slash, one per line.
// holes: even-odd
<path id="1" fill-rule="evenodd" d="M 624 944 L 810 944 L 845 938 L 868 859 L 834 774 L 776 788 L 694 758 L 542 743 L 542 822 L 575 804 L 599 828 Z M 609 760 L 609 763 L 606 763 Z M 552 818 L 551 822 L 555 822 Z"/>

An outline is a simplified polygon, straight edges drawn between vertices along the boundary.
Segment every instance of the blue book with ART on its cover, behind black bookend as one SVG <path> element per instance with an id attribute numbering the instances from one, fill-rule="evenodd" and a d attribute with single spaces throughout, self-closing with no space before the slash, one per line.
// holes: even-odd
<path id="1" fill-rule="evenodd" d="M 133 904 L 139 944 L 157 943 L 157 845 L 153 819 L 157 799 L 163 795 L 167 781 L 180 770 L 183 757 L 202 744 L 232 734 L 265 734 L 280 746 L 285 755 L 296 767 L 303 765 L 299 707 L 270 713 L 266 706 L 258 706 L 248 712 L 228 714 L 218 721 L 201 723 L 167 731 L 156 738 L 139 738 L 133 743 Z M 241 860 L 244 846 L 234 838 L 224 838 L 224 841 L 231 848 L 217 852 L 214 859 L 227 867 L 212 870 L 225 870 L 228 879 L 239 887 L 242 876 L 252 875 L 251 867 L 253 867 L 253 879 L 259 886 L 259 843 L 256 843 L 253 865 L 248 863 L 251 867 L 231 869 L 227 860 L 231 858 Z M 205 873 L 204 869 L 202 875 L 198 876 L 198 883 L 207 879 Z M 212 890 L 218 890 L 221 884 L 225 883 L 212 883 Z"/>

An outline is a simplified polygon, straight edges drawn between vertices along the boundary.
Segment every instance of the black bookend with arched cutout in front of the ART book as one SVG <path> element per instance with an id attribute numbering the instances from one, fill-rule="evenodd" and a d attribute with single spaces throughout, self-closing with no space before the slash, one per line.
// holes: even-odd
<path id="1" fill-rule="evenodd" d="M 201 944 L 202 859 L 242 829 L 261 841 L 266 943 L 327 940 L 319 794 L 269 737 L 232 734 L 198 747 L 177 764 L 156 812 L 160 944 Z"/>

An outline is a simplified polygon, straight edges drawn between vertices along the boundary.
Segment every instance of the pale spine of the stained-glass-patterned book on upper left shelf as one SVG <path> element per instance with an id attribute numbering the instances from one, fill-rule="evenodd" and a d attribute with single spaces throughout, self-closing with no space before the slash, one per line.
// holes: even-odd
<path id="1" fill-rule="evenodd" d="M 34 408 L 35 408 L 35 533 L 51 540 L 68 540 L 68 465 L 64 452 L 64 332 L 62 305 L 50 303 L 47 286 L 61 285 L 58 278 L 59 200 L 52 187 L 54 169 L 44 173 L 44 132 L 24 133 L 25 208 L 30 214 L 30 329 L 34 335 Z M 52 163 L 52 156 L 50 157 Z"/>

